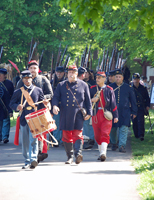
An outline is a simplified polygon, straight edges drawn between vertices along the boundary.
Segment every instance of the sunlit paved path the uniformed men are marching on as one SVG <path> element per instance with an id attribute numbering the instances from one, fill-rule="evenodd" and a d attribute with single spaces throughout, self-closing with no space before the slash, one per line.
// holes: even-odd
<path id="1" fill-rule="evenodd" d="M 131 166 L 130 137 L 126 154 L 108 148 L 106 162 L 98 149 L 84 150 L 79 165 L 65 165 L 63 147 L 50 148 L 49 157 L 34 170 L 22 170 L 21 143 L 0 144 L 0 200 L 139 200 L 138 175 Z"/>

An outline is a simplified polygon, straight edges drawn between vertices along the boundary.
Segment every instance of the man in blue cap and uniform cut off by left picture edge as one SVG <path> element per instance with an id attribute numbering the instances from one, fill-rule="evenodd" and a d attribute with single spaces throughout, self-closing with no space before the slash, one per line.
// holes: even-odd
<path id="1" fill-rule="evenodd" d="M 7 77 L 7 70 L 5 68 L 0 69 L 0 82 L 4 89 L 7 91 L 7 98 L 11 99 L 13 92 L 14 92 L 14 86 L 12 81 L 6 79 Z M 13 116 L 13 111 L 10 109 L 9 115 L 6 119 L 3 120 L 3 127 L 2 127 L 2 135 L 0 135 L 0 138 L 2 138 L 4 143 L 9 142 L 9 133 L 10 133 L 10 117 Z"/>

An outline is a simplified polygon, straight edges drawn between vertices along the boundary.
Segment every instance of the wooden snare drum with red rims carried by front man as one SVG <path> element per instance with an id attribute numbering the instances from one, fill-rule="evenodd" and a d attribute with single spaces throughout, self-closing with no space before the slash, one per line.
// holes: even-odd
<path id="1" fill-rule="evenodd" d="M 57 129 L 55 121 L 47 108 L 30 113 L 25 118 L 33 138 L 39 138 Z"/>

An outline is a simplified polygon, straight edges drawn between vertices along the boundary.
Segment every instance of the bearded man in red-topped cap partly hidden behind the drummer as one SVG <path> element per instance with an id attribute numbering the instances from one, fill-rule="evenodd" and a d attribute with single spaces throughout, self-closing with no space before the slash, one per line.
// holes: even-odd
<path id="1" fill-rule="evenodd" d="M 36 60 L 31 60 L 28 63 L 28 70 L 32 74 L 32 84 L 41 88 L 43 90 L 44 98 L 51 99 L 53 97 L 53 91 L 50 84 L 50 81 L 42 75 L 39 75 L 39 64 Z M 19 89 L 23 86 L 22 80 L 18 81 L 16 89 Z M 46 137 L 46 136 L 45 136 Z M 43 161 L 45 158 L 48 157 L 47 154 L 47 143 L 45 141 L 39 141 L 39 155 L 38 161 Z"/>

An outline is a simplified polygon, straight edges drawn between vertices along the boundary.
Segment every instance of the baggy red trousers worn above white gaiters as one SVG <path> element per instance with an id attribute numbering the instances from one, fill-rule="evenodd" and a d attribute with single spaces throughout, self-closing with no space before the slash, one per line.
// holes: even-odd
<path id="1" fill-rule="evenodd" d="M 92 117 L 92 126 L 97 144 L 101 145 L 102 142 L 109 144 L 112 120 L 105 119 L 103 110 L 98 110 L 97 114 Z"/>

